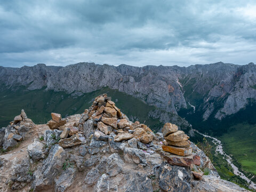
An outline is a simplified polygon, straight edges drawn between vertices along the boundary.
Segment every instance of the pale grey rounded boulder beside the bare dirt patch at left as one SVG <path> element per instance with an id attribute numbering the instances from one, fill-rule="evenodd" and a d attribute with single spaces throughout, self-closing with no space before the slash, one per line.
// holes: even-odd
<path id="1" fill-rule="evenodd" d="M 31 143 L 30 145 L 28 145 L 27 151 L 28 151 L 28 155 L 34 161 L 38 161 L 39 159 L 42 159 L 45 157 L 44 144 L 39 141 L 35 141 L 35 142 Z"/>

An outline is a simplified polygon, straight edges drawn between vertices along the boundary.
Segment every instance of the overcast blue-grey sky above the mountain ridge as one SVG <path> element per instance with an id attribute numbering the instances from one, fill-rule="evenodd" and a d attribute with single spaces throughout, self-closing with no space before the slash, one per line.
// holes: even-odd
<path id="1" fill-rule="evenodd" d="M 256 63 L 255 10 L 255 0 L 0 0 L 0 66 Z"/>

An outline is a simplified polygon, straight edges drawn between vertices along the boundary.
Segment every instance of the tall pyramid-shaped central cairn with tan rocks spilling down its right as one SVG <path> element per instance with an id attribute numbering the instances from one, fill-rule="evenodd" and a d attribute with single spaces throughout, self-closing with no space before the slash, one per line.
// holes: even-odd
<path id="1" fill-rule="evenodd" d="M 153 141 L 153 132 L 149 127 L 138 121 L 130 122 L 107 94 L 96 97 L 89 110 L 85 109 L 78 128 L 83 130 L 86 139 L 93 137 L 95 140 L 106 141 L 110 133 L 115 133 L 116 142 L 131 138 L 142 143 Z"/>

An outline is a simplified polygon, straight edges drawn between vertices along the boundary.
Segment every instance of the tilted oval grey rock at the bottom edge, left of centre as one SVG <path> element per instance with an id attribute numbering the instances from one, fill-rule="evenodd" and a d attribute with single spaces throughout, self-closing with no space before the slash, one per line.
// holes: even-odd
<path id="1" fill-rule="evenodd" d="M 55 179 L 55 192 L 64 192 L 73 184 L 76 178 L 76 169 L 68 167 L 59 179 Z"/>

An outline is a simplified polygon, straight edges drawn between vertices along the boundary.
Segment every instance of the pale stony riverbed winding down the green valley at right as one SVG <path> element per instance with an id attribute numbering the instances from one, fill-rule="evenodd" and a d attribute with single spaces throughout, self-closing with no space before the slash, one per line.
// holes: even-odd
<path id="1" fill-rule="evenodd" d="M 235 166 L 235 165 L 232 163 L 232 158 L 231 158 L 230 156 L 228 156 L 228 155 L 225 153 L 225 151 L 223 150 L 222 143 L 221 143 L 220 140 L 218 140 L 218 139 L 216 139 L 216 138 L 214 138 L 214 137 L 211 137 L 211 136 L 209 136 L 209 135 L 200 133 L 200 132 L 198 132 L 197 130 L 194 130 L 194 131 L 197 132 L 198 134 L 203 135 L 203 136 L 206 137 L 206 138 L 212 139 L 212 142 L 217 146 L 215 152 L 216 152 L 216 153 L 219 152 L 221 155 L 223 155 L 223 156 L 225 157 L 226 161 L 227 161 L 227 162 L 231 165 L 231 167 L 233 168 L 235 175 L 238 175 L 238 176 L 241 177 L 242 179 L 246 180 L 248 183 L 251 183 L 249 186 L 250 186 L 252 189 L 255 189 L 255 190 L 256 190 L 256 184 L 255 184 L 253 181 L 251 181 L 250 179 L 248 179 L 248 178 L 244 175 L 244 173 L 242 173 L 241 171 L 239 171 L 239 170 L 238 170 L 238 167 Z"/>

